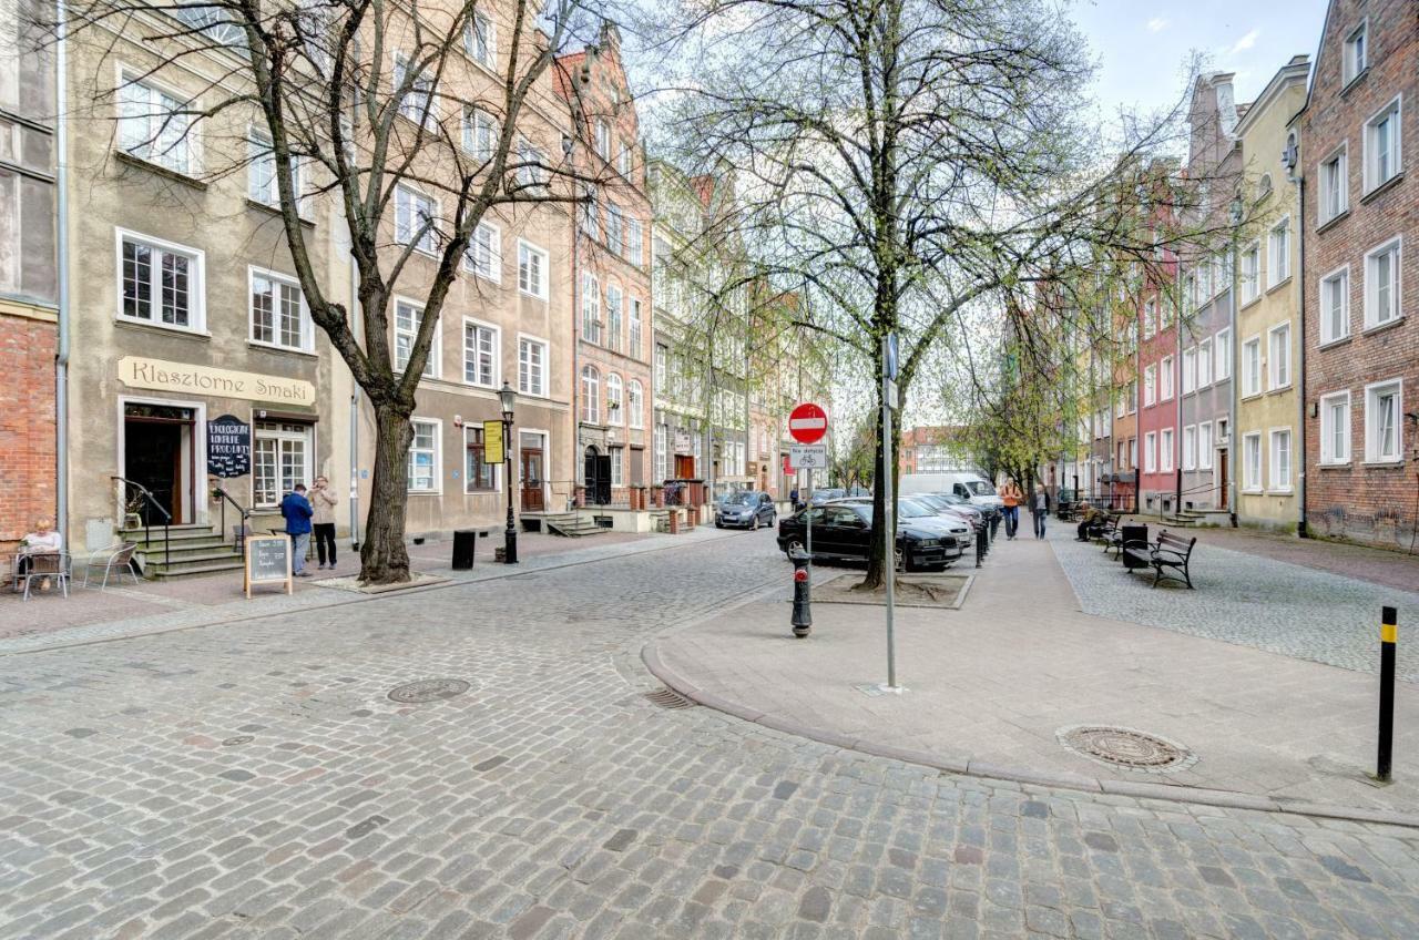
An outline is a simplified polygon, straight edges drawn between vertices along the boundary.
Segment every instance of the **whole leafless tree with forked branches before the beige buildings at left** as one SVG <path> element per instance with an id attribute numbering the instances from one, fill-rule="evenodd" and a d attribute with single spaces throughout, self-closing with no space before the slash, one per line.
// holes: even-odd
<path id="1" fill-rule="evenodd" d="M 231 146 L 209 141 L 209 151 L 223 153 L 203 172 L 226 175 L 260 162 L 272 176 L 311 318 L 375 413 L 366 582 L 409 579 L 414 393 L 478 223 L 494 207 L 572 203 L 613 185 L 609 173 L 573 169 L 568 155 L 587 136 L 590 119 L 578 94 L 587 77 L 555 74 L 562 53 L 593 40 L 595 13 L 576 0 L 68 4 L 72 41 L 101 53 L 95 104 L 116 99 L 129 119 L 125 133 L 135 124 L 148 128 L 142 139 L 122 142 L 128 152 L 162 162 L 187 135 L 226 132 Z M 109 60 L 132 47 L 149 64 L 123 71 L 116 84 L 105 81 L 101 75 L 114 72 Z M 149 78 L 203 87 L 186 102 L 153 105 L 128 95 Z M 263 129 L 251 146 L 248 124 Z M 409 187 L 429 202 L 409 200 Z M 309 200 L 329 200 L 343 217 L 359 311 L 335 298 L 314 258 L 302 224 Z M 419 281 L 423 314 L 413 339 L 392 342 L 393 298 L 400 285 L 409 290 L 416 254 L 433 258 L 434 273 Z"/>

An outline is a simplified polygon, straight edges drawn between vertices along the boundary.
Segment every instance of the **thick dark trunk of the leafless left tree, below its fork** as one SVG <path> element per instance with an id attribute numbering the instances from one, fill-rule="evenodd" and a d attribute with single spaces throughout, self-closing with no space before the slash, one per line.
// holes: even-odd
<path id="1" fill-rule="evenodd" d="M 375 406 L 375 479 L 359 571 L 365 584 L 409 581 L 404 505 L 409 501 L 409 444 L 414 437 L 409 423 L 412 413 L 399 405 Z"/>

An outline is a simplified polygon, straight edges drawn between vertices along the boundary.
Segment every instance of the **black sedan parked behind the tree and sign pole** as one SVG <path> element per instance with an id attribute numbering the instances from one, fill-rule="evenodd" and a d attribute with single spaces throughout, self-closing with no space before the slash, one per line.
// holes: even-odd
<path id="1" fill-rule="evenodd" d="M 860 503 L 829 503 L 779 520 L 779 548 L 788 554 L 795 545 L 807 547 L 805 530 L 813 520 L 813 558 L 866 561 L 873 535 L 873 507 Z M 935 528 L 897 521 L 897 564 L 907 571 L 942 571 L 961 558 L 961 542 Z"/>

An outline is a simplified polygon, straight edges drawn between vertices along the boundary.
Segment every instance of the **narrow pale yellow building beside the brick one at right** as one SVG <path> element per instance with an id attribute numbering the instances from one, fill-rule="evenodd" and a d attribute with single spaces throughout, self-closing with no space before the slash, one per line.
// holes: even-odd
<path id="1" fill-rule="evenodd" d="M 1243 524 L 1296 530 L 1301 446 L 1301 278 L 1297 187 L 1280 155 L 1287 124 L 1305 102 L 1310 62 L 1291 58 L 1237 122 L 1250 224 L 1237 244 L 1235 375 L 1237 518 Z"/>

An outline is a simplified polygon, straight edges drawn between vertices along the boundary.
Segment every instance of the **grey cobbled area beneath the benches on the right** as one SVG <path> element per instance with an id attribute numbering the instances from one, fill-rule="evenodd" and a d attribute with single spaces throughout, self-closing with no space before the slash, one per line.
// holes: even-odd
<path id="1" fill-rule="evenodd" d="M 1050 532 L 1050 544 L 1086 613 L 1358 672 L 1379 670 L 1381 606 L 1395 606 L 1401 623 L 1398 674 L 1419 682 L 1419 645 L 1412 640 L 1413 629 L 1405 629 L 1419 628 L 1419 594 L 1219 548 L 1210 544 L 1208 530 L 1196 535 L 1191 564 L 1195 591 L 1149 588 L 1152 572 L 1127 574 L 1098 545 L 1073 541 L 1073 527 Z"/>

